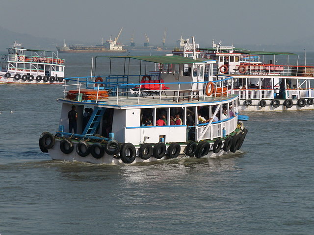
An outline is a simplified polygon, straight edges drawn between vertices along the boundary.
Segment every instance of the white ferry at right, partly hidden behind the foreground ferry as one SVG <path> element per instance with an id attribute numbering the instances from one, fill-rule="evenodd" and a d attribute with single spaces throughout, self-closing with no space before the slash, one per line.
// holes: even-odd
<path id="1" fill-rule="evenodd" d="M 183 50 L 173 55 L 213 59 L 216 61 L 213 75 L 232 75 L 235 79 L 232 94 L 239 95 L 239 109 L 243 111 L 314 109 L 314 67 L 290 65 L 289 52 L 250 51 L 222 47 L 212 41 L 211 48 L 199 48 L 186 40 Z M 265 57 L 268 60 L 265 60 Z M 276 56 L 286 56 L 285 65 L 277 64 Z M 297 57 L 298 62 L 298 57 Z"/>

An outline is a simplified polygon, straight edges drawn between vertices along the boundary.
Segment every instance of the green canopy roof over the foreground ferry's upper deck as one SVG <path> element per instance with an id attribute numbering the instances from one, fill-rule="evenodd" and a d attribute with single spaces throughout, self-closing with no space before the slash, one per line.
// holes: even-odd
<path id="1" fill-rule="evenodd" d="M 131 58 L 159 64 L 194 64 L 202 61 L 193 60 L 182 56 L 96 56 L 96 58 Z"/>

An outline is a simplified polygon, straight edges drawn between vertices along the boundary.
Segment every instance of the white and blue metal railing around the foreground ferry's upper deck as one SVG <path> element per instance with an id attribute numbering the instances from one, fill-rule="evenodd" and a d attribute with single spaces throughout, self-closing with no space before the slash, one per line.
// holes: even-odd
<path id="1" fill-rule="evenodd" d="M 136 75 L 138 76 L 138 75 Z M 97 94 L 94 95 L 93 100 L 96 100 L 96 103 L 100 99 L 99 92 L 106 91 L 109 96 L 116 96 L 116 104 L 119 104 L 119 101 L 125 99 L 137 99 L 137 103 L 140 103 L 140 100 L 143 99 L 159 99 L 159 103 L 162 99 L 169 98 L 173 99 L 173 101 L 180 102 L 180 100 L 192 101 L 195 99 L 205 100 L 206 95 L 206 87 L 208 82 L 154 82 L 154 88 L 145 87 L 147 84 L 144 83 L 126 83 L 126 81 L 118 81 L 119 77 L 123 77 L 129 81 L 128 76 L 101 76 L 103 81 L 95 82 L 96 77 L 71 77 L 64 78 L 64 98 L 69 93 L 69 88 L 77 89 L 78 94 L 80 94 L 81 89 L 89 89 L 94 90 Z M 212 94 L 210 97 L 214 99 L 223 98 L 224 96 L 228 97 L 231 94 L 231 88 L 233 87 L 233 77 L 224 75 L 222 76 L 224 79 L 219 79 L 216 81 L 212 81 L 215 84 L 213 88 Z M 116 81 L 111 81 L 111 79 L 116 79 Z M 109 82 L 108 82 L 109 81 Z M 118 82 L 117 82 L 118 81 Z M 185 89 L 180 89 L 182 86 L 190 85 L 192 87 L 193 84 L 201 84 L 201 89 L 189 89 L 186 93 L 181 94 L 182 91 L 186 91 Z M 150 84 L 152 86 L 152 84 Z M 177 87 L 177 89 L 166 89 L 166 86 Z M 171 94 L 173 93 L 173 95 Z M 77 93 L 76 93 L 77 94 Z M 182 99 L 181 99 L 182 98 Z"/>

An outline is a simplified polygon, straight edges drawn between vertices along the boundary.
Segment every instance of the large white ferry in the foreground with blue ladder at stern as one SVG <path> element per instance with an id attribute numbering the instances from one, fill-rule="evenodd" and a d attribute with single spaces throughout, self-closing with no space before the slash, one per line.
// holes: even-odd
<path id="1" fill-rule="evenodd" d="M 64 82 L 64 96 L 57 99 L 62 104 L 59 129 L 42 133 L 40 149 L 54 160 L 94 164 L 235 153 L 247 134 L 241 120 L 248 117 L 238 115 L 239 95 L 230 93 L 232 76 L 204 79 L 205 68 L 212 71 L 214 62 L 179 56 L 95 57 L 94 75 L 65 78 L 72 82 Z M 68 119 L 74 108 L 76 133 L 69 130 Z"/>

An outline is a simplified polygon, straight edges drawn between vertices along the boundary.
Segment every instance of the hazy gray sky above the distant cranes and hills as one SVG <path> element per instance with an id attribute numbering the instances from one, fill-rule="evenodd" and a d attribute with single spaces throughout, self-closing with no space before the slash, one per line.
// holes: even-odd
<path id="1" fill-rule="evenodd" d="M 314 0 L 1 0 L 0 25 L 58 40 L 110 35 L 142 46 L 195 36 L 200 46 L 285 43 L 314 35 Z M 206 45 L 205 45 L 206 44 Z"/>

